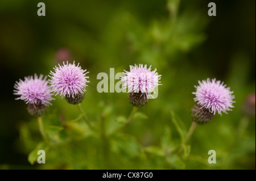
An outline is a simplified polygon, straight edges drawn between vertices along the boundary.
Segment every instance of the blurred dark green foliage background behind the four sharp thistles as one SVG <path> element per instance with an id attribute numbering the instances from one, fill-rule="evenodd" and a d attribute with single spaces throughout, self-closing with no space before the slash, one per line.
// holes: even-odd
<path id="1" fill-rule="evenodd" d="M 255 1 L 214 1 L 211 17 L 209 2 L 46 0 L 39 17 L 36 1 L 1 1 L 0 169 L 255 169 Z M 100 131 L 56 96 L 43 116 L 48 145 L 13 86 L 66 60 L 90 71 L 81 106 Z M 125 125 L 129 94 L 98 93 L 96 77 L 134 64 L 157 68 L 163 85 Z M 184 153 L 171 154 L 192 123 L 193 86 L 208 77 L 234 91 L 233 111 L 199 125 Z M 34 163 L 38 149 L 46 164 Z"/>

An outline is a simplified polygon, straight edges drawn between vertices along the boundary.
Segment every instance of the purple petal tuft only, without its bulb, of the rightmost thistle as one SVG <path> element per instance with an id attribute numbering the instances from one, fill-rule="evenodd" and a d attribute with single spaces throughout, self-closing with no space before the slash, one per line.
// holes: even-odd
<path id="1" fill-rule="evenodd" d="M 209 112 L 215 115 L 218 112 L 221 115 L 221 111 L 227 113 L 234 103 L 233 91 L 230 91 L 229 87 L 224 85 L 224 82 L 216 81 L 216 79 L 208 78 L 207 81 L 199 81 L 199 86 L 196 87 L 196 92 L 192 94 L 196 95 L 194 100 L 200 104 L 202 108 L 206 108 Z"/>

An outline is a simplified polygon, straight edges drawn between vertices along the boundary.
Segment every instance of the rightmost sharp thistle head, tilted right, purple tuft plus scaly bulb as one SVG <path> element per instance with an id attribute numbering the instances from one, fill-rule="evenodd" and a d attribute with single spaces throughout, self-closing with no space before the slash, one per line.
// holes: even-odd
<path id="1" fill-rule="evenodd" d="M 207 81 L 199 81 L 199 86 L 195 87 L 196 92 L 192 92 L 196 95 L 194 100 L 197 102 L 192 108 L 194 121 L 199 123 L 208 122 L 216 112 L 221 115 L 221 112 L 227 113 L 233 107 L 233 91 L 230 91 L 230 88 L 226 87 L 224 82 L 216 81 L 215 78 L 210 81 L 208 78 Z"/>

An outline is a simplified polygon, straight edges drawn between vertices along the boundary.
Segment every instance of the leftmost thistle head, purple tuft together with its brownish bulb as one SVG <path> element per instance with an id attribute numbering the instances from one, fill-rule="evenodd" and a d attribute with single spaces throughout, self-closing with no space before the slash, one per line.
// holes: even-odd
<path id="1" fill-rule="evenodd" d="M 51 97 L 51 90 L 48 86 L 48 81 L 43 75 L 34 75 L 24 78 L 24 81 L 19 79 L 14 85 L 14 95 L 19 95 L 16 99 L 24 100 L 27 104 L 28 113 L 32 116 L 43 115 L 46 107 L 51 105 L 50 101 L 53 100 Z"/>

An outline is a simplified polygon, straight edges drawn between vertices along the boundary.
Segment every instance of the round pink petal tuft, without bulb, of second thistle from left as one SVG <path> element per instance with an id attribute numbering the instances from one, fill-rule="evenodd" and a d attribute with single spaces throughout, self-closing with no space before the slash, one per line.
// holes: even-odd
<path id="1" fill-rule="evenodd" d="M 75 61 L 73 64 L 65 64 L 59 67 L 55 66 L 55 72 L 51 71 L 49 77 L 51 77 L 49 83 L 51 84 L 52 91 L 61 96 L 67 98 L 75 98 L 77 94 L 84 94 L 85 86 L 87 82 L 86 70 L 82 70 L 79 64 L 76 66 Z"/>

